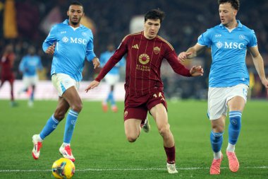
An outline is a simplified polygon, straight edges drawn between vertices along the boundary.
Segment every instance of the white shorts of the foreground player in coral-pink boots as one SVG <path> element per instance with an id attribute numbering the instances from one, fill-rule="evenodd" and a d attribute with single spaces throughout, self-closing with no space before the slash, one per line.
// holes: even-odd
<path id="1" fill-rule="evenodd" d="M 238 84 L 226 88 L 210 88 L 207 103 L 207 116 L 209 120 L 217 120 L 221 115 L 227 115 L 227 102 L 235 96 L 244 98 L 247 102 L 248 86 Z"/>

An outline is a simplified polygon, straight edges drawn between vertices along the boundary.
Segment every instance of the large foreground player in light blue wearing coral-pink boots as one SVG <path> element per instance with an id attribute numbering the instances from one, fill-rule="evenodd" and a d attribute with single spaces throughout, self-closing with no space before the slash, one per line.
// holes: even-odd
<path id="1" fill-rule="evenodd" d="M 245 64 L 247 50 L 250 50 L 262 84 L 268 89 L 264 63 L 257 47 L 255 32 L 236 20 L 239 1 L 219 0 L 218 3 L 221 24 L 208 29 L 200 35 L 195 46 L 178 55 L 178 58 L 184 61 L 196 57 L 198 52 L 206 46 L 211 48 L 212 66 L 209 72 L 207 111 L 212 124 L 210 142 L 214 151 L 214 159 L 210 167 L 211 175 L 220 173 L 223 158 L 221 153 L 222 135 L 228 108 L 230 124 L 226 155 L 229 159 L 230 170 L 237 172 L 239 169 L 235 146 L 240 133 L 241 117 L 249 85 L 248 69 Z"/>

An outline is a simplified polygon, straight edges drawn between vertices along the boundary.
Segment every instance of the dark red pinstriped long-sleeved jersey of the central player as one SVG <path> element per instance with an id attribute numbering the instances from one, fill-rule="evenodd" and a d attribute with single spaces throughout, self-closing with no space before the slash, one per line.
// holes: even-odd
<path id="1" fill-rule="evenodd" d="M 141 33 L 130 34 L 124 37 L 121 45 L 114 55 L 106 63 L 96 81 L 101 81 L 119 60 L 126 57 L 126 91 L 144 95 L 163 90 L 163 82 L 160 77 L 160 67 L 163 59 L 171 65 L 173 71 L 183 76 L 191 76 L 177 58 L 173 47 L 162 37 L 148 40 Z"/>

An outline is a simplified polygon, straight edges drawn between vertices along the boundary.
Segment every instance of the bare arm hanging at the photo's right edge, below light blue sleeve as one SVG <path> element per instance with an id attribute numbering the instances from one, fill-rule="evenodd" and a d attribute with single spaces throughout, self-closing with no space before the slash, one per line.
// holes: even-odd
<path id="1" fill-rule="evenodd" d="M 262 59 L 262 55 L 260 54 L 258 47 L 250 47 L 250 54 L 253 59 L 253 63 L 255 65 L 255 68 L 257 70 L 257 74 L 260 76 L 260 80 L 262 81 L 262 84 L 264 85 L 265 88 L 268 90 L 268 81 L 265 77 L 265 72 L 264 72 L 264 63 Z"/>

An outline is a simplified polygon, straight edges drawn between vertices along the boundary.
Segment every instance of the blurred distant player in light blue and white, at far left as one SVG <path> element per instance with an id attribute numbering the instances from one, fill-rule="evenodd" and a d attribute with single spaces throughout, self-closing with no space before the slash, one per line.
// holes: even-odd
<path id="1" fill-rule="evenodd" d="M 35 47 L 29 47 L 28 54 L 23 57 L 20 62 L 19 70 L 23 73 L 23 88 L 18 93 L 22 93 L 32 87 L 30 99 L 28 101 L 29 107 L 32 107 L 35 95 L 35 86 L 38 81 L 37 70 L 42 70 L 41 58 L 35 54 Z"/>

